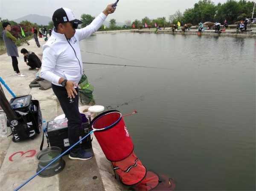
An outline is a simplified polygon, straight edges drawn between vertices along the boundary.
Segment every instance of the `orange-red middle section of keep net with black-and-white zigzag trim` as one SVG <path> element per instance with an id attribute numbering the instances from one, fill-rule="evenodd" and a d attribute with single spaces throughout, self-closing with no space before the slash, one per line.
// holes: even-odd
<path id="1" fill-rule="evenodd" d="M 131 153 L 126 159 L 119 162 L 112 162 L 116 174 L 124 185 L 135 185 L 142 181 L 147 170 L 135 153 Z"/>

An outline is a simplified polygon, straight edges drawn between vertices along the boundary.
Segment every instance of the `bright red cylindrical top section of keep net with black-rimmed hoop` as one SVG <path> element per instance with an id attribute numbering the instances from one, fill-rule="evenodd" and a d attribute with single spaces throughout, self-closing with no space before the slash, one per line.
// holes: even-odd
<path id="1" fill-rule="evenodd" d="M 106 128 L 95 131 L 94 135 L 108 160 L 121 161 L 132 153 L 134 145 L 119 111 L 112 110 L 100 114 L 93 119 L 92 127 Z"/>

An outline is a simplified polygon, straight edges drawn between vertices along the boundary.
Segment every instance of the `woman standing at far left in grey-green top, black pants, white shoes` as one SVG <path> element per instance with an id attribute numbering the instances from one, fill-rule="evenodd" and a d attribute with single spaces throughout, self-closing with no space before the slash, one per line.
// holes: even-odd
<path id="1" fill-rule="evenodd" d="M 26 75 L 23 75 L 20 73 L 19 67 L 18 67 L 18 60 L 17 57 L 19 57 L 18 49 L 15 44 L 17 39 L 10 33 L 11 31 L 11 24 L 8 22 L 3 23 L 3 32 L 2 32 L 2 38 L 6 45 L 7 54 L 8 56 L 12 57 L 12 67 L 15 71 L 15 73 L 20 77 L 26 77 Z"/>

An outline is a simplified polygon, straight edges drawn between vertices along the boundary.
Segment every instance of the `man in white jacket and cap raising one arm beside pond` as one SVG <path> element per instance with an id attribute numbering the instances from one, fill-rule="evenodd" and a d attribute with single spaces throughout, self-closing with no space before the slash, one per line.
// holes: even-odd
<path id="1" fill-rule="evenodd" d="M 96 17 L 90 25 L 77 29 L 82 22 L 67 8 L 57 9 L 52 21 L 55 28 L 43 46 L 41 77 L 52 82 L 52 90 L 68 119 L 70 146 L 79 141 L 81 116 L 79 113 L 78 83 L 83 74 L 79 41 L 89 37 L 101 26 L 108 14 L 115 11 L 113 4 Z M 87 160 L 93 153 L 85 152 L 80 146 L 70 151 L 70 159 Z"/>

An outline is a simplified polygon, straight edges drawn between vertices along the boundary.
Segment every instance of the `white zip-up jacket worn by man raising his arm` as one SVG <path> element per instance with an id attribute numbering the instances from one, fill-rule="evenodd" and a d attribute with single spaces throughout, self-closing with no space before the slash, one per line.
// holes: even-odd
<path id="1" fill-rule="evenodd" d="M 52 30 L 52 36 L 43 46 L 41 78 L 58 84 L 60 78 L 79 83 L 83 73 L 79 41 L 96 32 L 106 19 L 104 13 L 99 14 L 90 25 L 76 29 L 75 35 L 67 40 L 66 36 Z"/>

